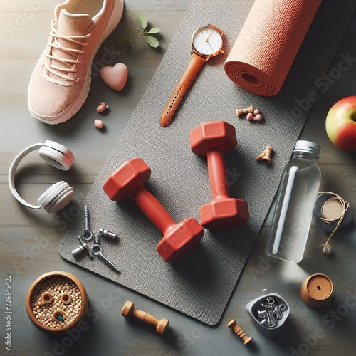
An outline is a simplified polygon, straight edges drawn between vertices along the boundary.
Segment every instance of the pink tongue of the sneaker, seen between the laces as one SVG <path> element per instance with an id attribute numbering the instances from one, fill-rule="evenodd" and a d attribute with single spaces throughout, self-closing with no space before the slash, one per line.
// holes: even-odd
<path id="1" fill-rule="evenodd" d="M 80 14 L 80 15 L 74 15 L 70 14 L 69 12 L 66 11 L 66 9 L 62 9 L 58 19 L 57 19 L 57 24 L 56 28 L 59 33 L 61 33 L 64 36 L 83 36 L 86 34 L 86 31 L 88 30 L 88 27 L 93 23 L 93 20 L 91 17 L 87 14 Z M 60 43 L 61 46 L 65 48 L 71 48 L 71 49 L 82 49 L 82 46 L 70 42 L 64 38 L 57 38 L 58 43 Z M 80 41 L 84 42 L 83 39 L 80 38 L 75 38 L 75 41 Z M 76 59 L 77 54 L 71 54 L 66 51 L 63 51 L 61 49 L 53 48 L 52 51 L 54 56 L 58 56 L 59 58 L 66 60 L 66 59 Z M 65 68 L 69 69 L 68 66 L 66 66 L 64 63 L 61 63 L 61 61 L 56 61 L 53 59 L 51 61 L 52 66 L 56 66 L 59 68 Z M 63 74 L 67 74 L 65 71 L 61 72 Z M 57 78 L 56 75 L 50 74 L 52 78 Z"/>

